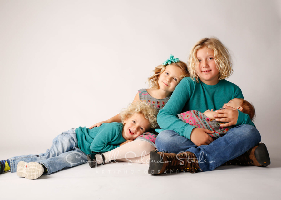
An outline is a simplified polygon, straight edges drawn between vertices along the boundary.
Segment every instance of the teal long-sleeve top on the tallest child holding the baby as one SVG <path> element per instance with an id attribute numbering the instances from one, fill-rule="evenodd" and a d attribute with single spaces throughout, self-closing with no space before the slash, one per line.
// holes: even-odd
<path id="1" fill-rule="evenodd" d="M 190 139 L 194 126 L 184 123 L 177 114 L 188 110 L 205 112 L 208 109 L 218 110 L 224 103 L 234 98 L 243 98 L 241 89 L 235 84 L 221 80 L 218 84 L 210 86 L 199 80 L 193 81 L 190 77 L 183 78 L 176 86 L 170 100 L 159 111 L 157 122 L 162 129 L 174 130 L 181 136 Z M 250 124 L 255 126 L 248 114 L 239 111 L 236 125 Z"/>

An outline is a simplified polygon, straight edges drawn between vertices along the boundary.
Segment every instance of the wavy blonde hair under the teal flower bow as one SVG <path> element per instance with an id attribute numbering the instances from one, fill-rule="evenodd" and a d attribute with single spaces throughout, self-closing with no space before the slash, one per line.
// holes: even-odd
<path id="1" fill-rule="evenodd" d="M 190 76 L 189 72 L 187 70 L 187 65 L 184 62 L 178 61 L 176 63 L 171 63 L 170 65 L 179 67 L 182 70 L 182 74 L 180 75 L 180 80 L 183 79 L 184 77 Z M 155 67 L 155 69 L 152 71 L 153 75 L 147 79 L 149 88 L 155 88 L 155 89 L 160 88 L 160 86 L 158 84 L 158 80 L 159 80 L 160 75 L 165 71 L 167 66 L 168 66 L 168 64 L 158 65 L 157 67 Z"/>

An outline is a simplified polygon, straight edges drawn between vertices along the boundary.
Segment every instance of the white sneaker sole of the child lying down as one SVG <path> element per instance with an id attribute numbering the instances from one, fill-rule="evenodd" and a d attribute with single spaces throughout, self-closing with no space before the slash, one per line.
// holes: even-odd
<path id="1" fill-rule="evenodd" d="M 43 174 L 43 172 L 43 166 L 37 162 L 27 163 L 20 161 L 17 164 L 17 175 L 29 180 L 37 179 Z"/>

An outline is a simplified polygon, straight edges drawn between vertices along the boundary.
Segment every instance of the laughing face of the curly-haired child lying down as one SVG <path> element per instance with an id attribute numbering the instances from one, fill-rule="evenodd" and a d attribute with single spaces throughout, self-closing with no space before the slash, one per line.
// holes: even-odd
<path id="1" fill-rule="evenodd" d="M 143 114 L 135 113 L 124 121 L 122 136 L 126 139 L 136 139 L 138 136 L 150 130 L 150 125 Z"/>

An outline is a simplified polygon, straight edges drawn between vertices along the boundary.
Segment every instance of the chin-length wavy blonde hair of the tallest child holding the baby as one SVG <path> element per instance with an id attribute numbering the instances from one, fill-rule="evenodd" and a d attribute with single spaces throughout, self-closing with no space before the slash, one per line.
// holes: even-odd
<path id="1" fill-rule="evenodd" d="M 196 57 L 196 53 L 203 47 L 214 51 L 214 61 L 217 69 L 219 70 L 219 81 L 228 78 L 233 72 L 229 50 L 218 38 L 211 37 L 199 40 L 190 51 L 188 58 L 188 70 L 191 79 L 194 80 L 195 78 L 196 82 L 198 82 L 198 74 L 196 73 L 198 59 Z"/>

